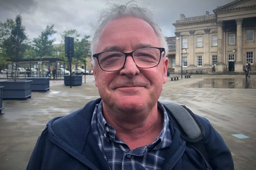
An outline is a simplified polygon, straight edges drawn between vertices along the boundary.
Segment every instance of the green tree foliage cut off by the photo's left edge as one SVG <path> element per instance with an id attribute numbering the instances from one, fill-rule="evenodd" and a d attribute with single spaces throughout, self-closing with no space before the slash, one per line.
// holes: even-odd
<path id="1" fill-rule="evenodd" d="M 4 41 L 11 36 L 13 27 L 15 27 L 15 23 L 12 19 L 0 22 L 0 66 L 4 65 L 5 61 L 9 59 L 5 53 Z"/>

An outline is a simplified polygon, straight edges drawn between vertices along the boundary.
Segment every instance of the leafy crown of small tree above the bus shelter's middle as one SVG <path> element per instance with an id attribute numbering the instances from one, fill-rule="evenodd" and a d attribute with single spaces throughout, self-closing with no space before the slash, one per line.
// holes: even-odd
<path id="1" fill-rule="evenodd" d="M 33 39 L 33 47 L 35 49 L 35 52 L 37 56 L 40 57 L 40 59 L 43 56 L 52 56 L 53 55 L 53 42 L 55 41 L 55 38 L 52 40 L 49 40 L 49 36 L 55 34 L 57 31 L 53 30 L 54 25 L 47 25 L 46 29 L 41 32 L 41 35 L 39 35 L 38 38 Z"/>

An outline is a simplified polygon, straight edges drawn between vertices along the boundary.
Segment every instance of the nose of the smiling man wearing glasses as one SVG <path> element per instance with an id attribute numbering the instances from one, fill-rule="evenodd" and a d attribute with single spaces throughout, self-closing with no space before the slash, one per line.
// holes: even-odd
<path id="1" fill-rule="evenodd" d="M 127 56 L 124 67 L 120 70 L 120 73 L 129 77 L 133 77 L 140 73 L 140 70 L 133 61 L 132 56 Z"/>

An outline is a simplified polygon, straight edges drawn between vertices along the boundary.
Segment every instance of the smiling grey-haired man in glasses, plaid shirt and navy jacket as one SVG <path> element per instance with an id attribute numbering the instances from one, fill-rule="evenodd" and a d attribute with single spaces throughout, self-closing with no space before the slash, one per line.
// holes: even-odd
<path id="1" fill-rule="evenodd" d="M 234 169 L 229 149 L 200 116 L 210 161 L 185 142 L 158 101 L 168 47 L 151 12 L 134 2 L 104 11 L 91 42 L 101 98 L 54 118 L 27 169 Z"/>

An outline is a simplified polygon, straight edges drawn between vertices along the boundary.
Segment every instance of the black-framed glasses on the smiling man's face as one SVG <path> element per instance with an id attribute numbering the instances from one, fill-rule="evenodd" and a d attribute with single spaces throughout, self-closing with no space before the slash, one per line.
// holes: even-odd
<path id="1" fill-rule="evenodd" d="M 127 56 L 131 56 L 136 66 L 139 68 L 156 67 L 161 59 L 162 52 L 165 48 L 141 48 L 129 53 L 121 51 L 109 51 L 93 54 L 92 56 L 98 60 L 99 67 L 106 72 L 114 72 L 124 67 Z"/>

